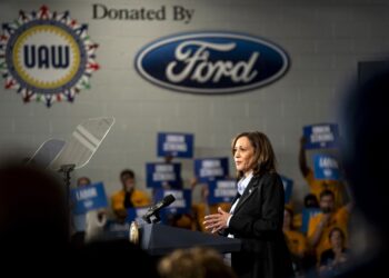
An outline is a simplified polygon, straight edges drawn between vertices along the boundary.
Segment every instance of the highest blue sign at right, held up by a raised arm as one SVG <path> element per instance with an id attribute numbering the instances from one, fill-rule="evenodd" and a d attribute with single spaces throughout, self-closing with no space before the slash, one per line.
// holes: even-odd
<path id="1" fill-rule="evenodd" d="M 303 127 L 303 137 L 307 138 L 306 149 L 337 148 L 339 130 L 336 123 L 320 123 Z"/>

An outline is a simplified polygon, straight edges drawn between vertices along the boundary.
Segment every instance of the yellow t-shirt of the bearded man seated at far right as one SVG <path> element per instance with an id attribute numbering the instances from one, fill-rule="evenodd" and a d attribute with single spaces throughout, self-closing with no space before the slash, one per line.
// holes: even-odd
<path id="1" fill-rule="evenodd" d="M 308 232 L 307 232 L 307 237 L 309 240 L 312 239 L 316 229 L 318 228 L 322 217 L 325 215 L 322 212 L 317 214 L 316 216 L 313 216 L 310 220 L 309 220 L 309 225 L 308 225 Z M 345 232 L 345 237 L 346 237 L 346 242 L 348 239 L 348 221 L 349 221 L 349 211 L 346 209 L 345 207 L 341 207 L 340 209 L 338 209 L 329 219 L 328 224 L 326 225 L 326 227 L 323 227 L 323 230 L 321 232 L 321 237 L 320 240 L 316 247 L 316 254 L 318 256 L 318 258 L 320 258 L 321 252 L 326 249 L 330 249 L 331 248 L 331 244 L 329 240 L 329 234 L 331 231 L 332 228 L 338 227 L 340 228 L 343 232 Z"/>

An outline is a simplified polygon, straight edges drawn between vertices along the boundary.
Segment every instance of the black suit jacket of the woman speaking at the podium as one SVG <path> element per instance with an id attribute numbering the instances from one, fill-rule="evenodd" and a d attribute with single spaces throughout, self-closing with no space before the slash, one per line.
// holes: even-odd
<path id="1" fill-rule="evenodd" d="M 253 176 L 235 208 L 226 234 L 242 240 L 231 254 L 240 278 L 292 277 L 290 255 L 282 232 L 283 185 L 279 175 Z"/>

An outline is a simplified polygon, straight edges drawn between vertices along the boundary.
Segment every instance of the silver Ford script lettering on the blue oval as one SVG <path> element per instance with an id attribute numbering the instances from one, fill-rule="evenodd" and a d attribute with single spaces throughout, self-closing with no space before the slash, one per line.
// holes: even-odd
<path id="1" fill-rule="evenodd" d="M 193 51 L 190 47 L 198 48 Z M 208 60 L 210 56 L 208 50 L 227 52 L 235 48 L 236 43 L 233 42 L 225 44 L 198 40 L 182 42 L 174 51 L 178 61 L 170 62 L 166 69 L 167 78 L 171 82 L 181 82 L 191 75 L 190 79 L 200 83 L 209 80 L 219 82 L 222 77 L 231 78 L 233 82 L 250 82 L 258 75 L 257 70 L 253 70 L 253 66 L 258 60 L 259 52 L 252 52 L 248 61 L 238 61 L 237 63 L 230 60 L 216 62 Z M 180 69 L 182 70 L 180 71 Z"/>

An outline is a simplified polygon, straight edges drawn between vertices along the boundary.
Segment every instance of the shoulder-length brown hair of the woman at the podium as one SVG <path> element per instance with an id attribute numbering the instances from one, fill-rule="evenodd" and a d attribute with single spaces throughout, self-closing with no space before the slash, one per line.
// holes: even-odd
<path id="1" fill-rule="evenodd" d="M 247 131 L 241 132 L 232 139 L 231 151 L 235 156 L 235 145 L 237 140 L 241 137 L 247 137 L 255 149 L 253 160 L 256 166 L 253 167 L 253 175 L 261 175 L 265 172 L 276 172 L 276 155 L 271 147 L 269 138 L 259 131 Z M 243 176 L 242 171 L 237 172 L 237 177 L 241 178 Z"/>

